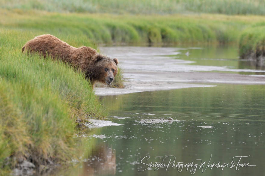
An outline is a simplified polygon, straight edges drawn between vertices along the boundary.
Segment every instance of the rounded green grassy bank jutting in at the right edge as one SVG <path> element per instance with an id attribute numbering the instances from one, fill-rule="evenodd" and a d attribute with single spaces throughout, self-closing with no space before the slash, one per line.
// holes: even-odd
<path id="1" fill-rule="evenodd" d="M 257 66 L 265 65 L 265 23 L 257 23 L 242 32 L 239 40 L 239 55 L 242 59 L 256 61 Z"/>

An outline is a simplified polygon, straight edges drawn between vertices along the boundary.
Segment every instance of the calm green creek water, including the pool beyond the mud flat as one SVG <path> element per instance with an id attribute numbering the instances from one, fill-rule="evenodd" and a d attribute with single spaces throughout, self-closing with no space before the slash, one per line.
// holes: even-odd
<path id="1" fill-rule="evenodd" d="M 264 75 L 262 68 L 239 61 L 233 47 L 188 51 L 189 58 L 185 49 L 182 57 L 171 57 L 194 61 L 190 64 L 197 67 Z M 265 85 L 212 85 L 100 97 L 109 111 L 107 120 L 121 125 L 81 132 L 77 139 L 83 156 L 58 174 L 264 175 Z"/>

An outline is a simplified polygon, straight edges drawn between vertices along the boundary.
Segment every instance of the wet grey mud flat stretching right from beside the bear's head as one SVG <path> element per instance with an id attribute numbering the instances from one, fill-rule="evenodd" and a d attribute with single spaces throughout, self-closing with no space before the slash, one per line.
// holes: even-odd
<path id="1" fill-rule="evenodd" d="M 168 57 L 168 55 L 179 55 L 181 58 L 181 55 L 188 55 L 189 52 L 186 48 L 124 46 L 100 47 L 100 51 L 105 55 L 119 59 L 120 67 L 124 71 L 125 88 L 95 88 L 97 95 L 214 86 L 203 85 L 205 83 L 265 84 L 265 70 L 191 65 L 194 61 Z M 252 73 L 252 75 L 240 75 L 231 72 L 245 72 Z M 255 72 L 264 74 L 253 76 Z"/>

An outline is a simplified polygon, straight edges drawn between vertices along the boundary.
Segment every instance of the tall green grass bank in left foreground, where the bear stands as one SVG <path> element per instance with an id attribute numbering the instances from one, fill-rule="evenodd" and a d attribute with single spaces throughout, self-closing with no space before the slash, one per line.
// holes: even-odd
<path id="1" fill-rule="evenodd" d="M 21 54 L 23 44 L 35 35 L 0 29 L 0 175 L 18 158 L 37 167 L 72 159 L 76 121 L 106 116 L 82 73 L 60 61 Z M 61 37 L 74 46 L 93 45 L 87 38 L 83 41 L 86 36 Z"/>

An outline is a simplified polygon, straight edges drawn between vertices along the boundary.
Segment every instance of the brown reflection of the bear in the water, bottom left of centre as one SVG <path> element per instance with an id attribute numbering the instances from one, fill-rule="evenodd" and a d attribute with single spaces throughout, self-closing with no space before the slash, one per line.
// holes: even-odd
<path id="1" fill-rule="evenodd" d="M 102 143 L 92 149 L 91 155 L 83 162 L 81 175 L 115 175 L 116 156 L 111 146 Z"/>

